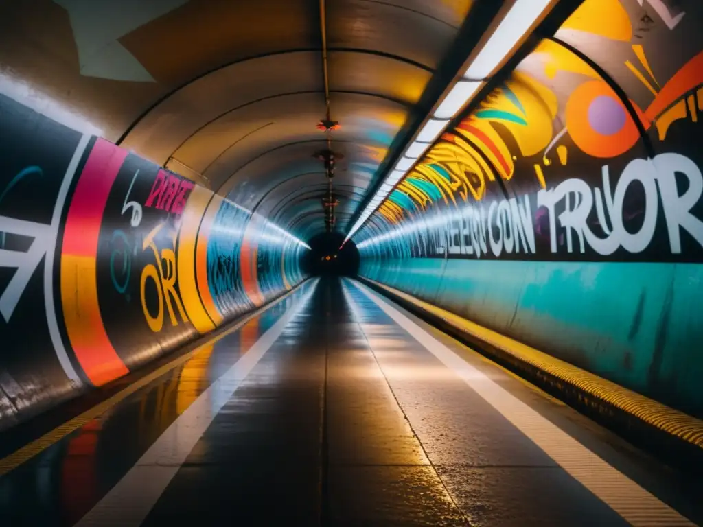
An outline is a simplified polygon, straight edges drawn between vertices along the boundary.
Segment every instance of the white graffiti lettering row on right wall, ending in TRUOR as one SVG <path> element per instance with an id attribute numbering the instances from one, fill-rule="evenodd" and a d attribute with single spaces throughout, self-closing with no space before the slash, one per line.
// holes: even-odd
<path id="1" fill-rule="evenodd" d="M 655 235 L 666 235 L 670 253 L 681 254 L 686 250 L 682 231 L 703 247 L 703 221 L 697 216 L 703 174 L 688 157 L 669 152 L 631 160 L 615 183 L 605 165 L 598 183 L 569 178 L 532 195 L 437 209 L 368 238 L 359 248 L 374 245 L 420 257 L 520 259 L 537 254 L 538 234 L 548 240 L 540 252 L 593 258 L 619 251 L 639 254 L 652 246 Z M 541 223 L 543 216 L 548 226 Z M 667 242 L 657 240 L 657 251 L 662 243 Z"/>

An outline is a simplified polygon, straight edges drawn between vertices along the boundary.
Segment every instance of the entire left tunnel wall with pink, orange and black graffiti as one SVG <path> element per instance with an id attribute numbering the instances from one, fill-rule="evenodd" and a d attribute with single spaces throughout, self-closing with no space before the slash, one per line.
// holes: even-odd
<path id="1" fill-rule="evenodd" d="M 0 429 L 304 278 L 258 214 L 0 96 Z"/>

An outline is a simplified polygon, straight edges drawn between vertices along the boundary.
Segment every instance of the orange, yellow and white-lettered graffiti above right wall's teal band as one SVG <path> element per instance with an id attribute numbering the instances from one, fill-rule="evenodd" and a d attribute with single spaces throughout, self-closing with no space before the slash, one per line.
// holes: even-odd
<path id="1" fill-rule="evenodd" d="M 464 257 L 699 261 L 702 16 L 695 2 L 587 0 L 440 138 L 356 242 L 394 240 L 417 255 L 431 244 Z M 455 234 L 438 242 L 418 221 L 427 215 Z"/>

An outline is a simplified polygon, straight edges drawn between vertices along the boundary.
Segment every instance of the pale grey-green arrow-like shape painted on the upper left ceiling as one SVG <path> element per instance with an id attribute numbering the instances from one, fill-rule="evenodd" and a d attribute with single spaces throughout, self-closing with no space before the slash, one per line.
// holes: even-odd
<path id="1" fill-rule="evenodd" d="M 81 74 L 133 82 L 155 80 L 117 39 L 187 1 L 54 0 L 70 16 Z"/>

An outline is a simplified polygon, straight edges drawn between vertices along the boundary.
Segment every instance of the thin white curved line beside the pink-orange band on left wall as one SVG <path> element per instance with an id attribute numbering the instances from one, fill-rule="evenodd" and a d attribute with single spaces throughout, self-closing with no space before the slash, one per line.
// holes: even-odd
<path id="1" fill-rule="evenodd" d="M 49 237 L 50 243 L 49 247 L 46 247 L 46 254 L 44 255 L 44 306 L 46 307 L 46 322 L 49 324 L 49 334 L 51 335 L 51 344 L 53 344 L 53 349 L 56 351 L 56 356 L 58 357 L 58 362 L 63 367 L 63 371 L 66 373 L 68 379 L 74 388 L 78 388 L 83 385 L 81 378 L 78 376 L 75 368 L 71 364 L 70 358 L 68 358 L 68 353 L 63 346 L 63 340 L 61 340 L 61 334 L 58 330 L 58 320 L 56 318 L 56 305 L 54 304 L 53 297 L 53 258 L 56 254 L 56 245 L 58 245 L 58 227 L 61 221 L 61 212 L 63 212 L 63 205 L 66 202 L 66 196 L 68 195 L 68 189 L 71 186 L 71 181 L 76 175 L 76 169 L 78 168 L 78 163 L 83 157 L 83 152 L 85 152 L 88 146 L 88 141 L 90 141 L 91 136 L 84 134 L 78 143 L 76 151 L 73 153 L 71 162 L 68 164 L 66 169 L 66 174 L 63 176 L 63 183 L 58 190 L 58 197 L 56 197 L 56 204 L 53 209 L 53 216 L 51 218 L 51 235 Z"/>

